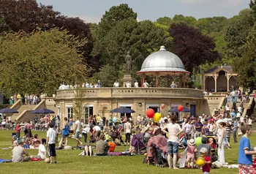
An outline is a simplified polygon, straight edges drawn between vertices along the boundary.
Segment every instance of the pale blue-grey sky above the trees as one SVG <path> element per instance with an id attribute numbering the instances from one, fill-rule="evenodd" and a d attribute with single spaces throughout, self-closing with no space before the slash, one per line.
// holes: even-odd
<path id="1" fill-rule="evenodd" d="M 79 17 L 86 23 L 98 23 L 105 11 L 112 6 L 128 4 L 138 14 L 138 20 L 156 21 L 174 15 L 207 18 L 225 16 L 231 18 L 249 8 L 249 0 L 37 0 L 53 5 L 54 10 L 69 17 Z"/>

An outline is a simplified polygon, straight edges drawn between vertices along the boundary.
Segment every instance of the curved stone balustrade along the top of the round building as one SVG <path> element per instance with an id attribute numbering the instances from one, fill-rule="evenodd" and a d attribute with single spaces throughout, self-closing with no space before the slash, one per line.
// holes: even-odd
<path id="1" fill-rule="evenodd" d="M 199 98 L 203 91 L 192 88 L 82 88 L 56 91 L 56 99 L 74 99 L 76 90 L 83 90 L 84 98 Z"/>

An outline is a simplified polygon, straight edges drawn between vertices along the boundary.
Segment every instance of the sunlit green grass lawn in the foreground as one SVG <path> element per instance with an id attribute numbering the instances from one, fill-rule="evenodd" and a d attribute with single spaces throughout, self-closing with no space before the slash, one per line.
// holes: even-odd
<path id="1" fill-rule="evenodd" d="M 39 137 L 45 137 L 45 132 L 33 132 Z M 11 159 L 12 150 L 2 148 L 10 147 L 11 131 L 0 130 L 0 158 Z M 251 145 L 256 145 L 256 135 L 253 134 Z M 233 139 L 231 138 L 231 142 Z M 75 145 L 75 140 L 69 141 L 69 145 Z M 231 149 L 225 149 L 225 159 L 230 164 L 236 164 L 238 158 L 238 144 L 231 143 Z M 125 151 L 127 147 L 117 146 L 115 151 Z M 29 155 L 37 154 L 38 150 L 28 150 Z M 144 156 L 78 156 L 79 150 L 57 151 L 58 164 L 46 164 L 45 162 L 23 162 L 0 164 L 0 173 L 202 173 L 201 170 L 181 169 L 170 170 L 167 167 L 159 168 L 153 165 L 143 164 Z M 238 173 L 238 169 L 211 170 L 211 173 Z"/>

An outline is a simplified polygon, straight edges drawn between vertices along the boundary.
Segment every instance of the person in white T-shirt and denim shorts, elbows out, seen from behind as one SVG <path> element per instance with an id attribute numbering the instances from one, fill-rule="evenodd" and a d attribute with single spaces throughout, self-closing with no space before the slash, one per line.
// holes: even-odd
<path id="1" fill-rule="evenodd" d="M 176 116 L 171 116 L 170 124 L 167 124 L 162 128 L 162 132 L 169 134 L 168 143 L 167 143 L 167 161 L 169 164 L 169 168 L 172 167 L 171 164 L 171 156 L 173 155 L 173 169 L 178 169 L 176 166 L 178 159 L 178 143 L 179 143 L 179 135 L 183 132 L 181 126 L 176 124 Z M 165 130 L 167 129 L 168 132 Z"/>

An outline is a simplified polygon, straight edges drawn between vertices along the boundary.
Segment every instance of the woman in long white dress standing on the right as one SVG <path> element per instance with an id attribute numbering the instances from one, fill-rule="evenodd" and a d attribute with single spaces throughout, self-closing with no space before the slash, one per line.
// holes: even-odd
<path id="1" fill-rule="evenodd" d="M 225 122 L 220 122 L 219 123 L 219 129 L 217 132 L 217 136 L 218 136 L 218 156 L 219 156 L 219 162 L 222 165 L 225 165 L 225 151 L 224 151 L 224 147 L 226 145 L 225 143 L 225 137 L 226 137 L 226 129 L 225 129 Z"/>

